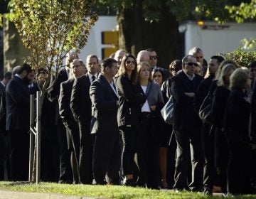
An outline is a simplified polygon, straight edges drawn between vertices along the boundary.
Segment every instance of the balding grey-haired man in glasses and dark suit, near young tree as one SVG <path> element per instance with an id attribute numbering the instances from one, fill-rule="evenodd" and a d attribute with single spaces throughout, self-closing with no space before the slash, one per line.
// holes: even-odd
<path id="1" fill-rule="evenodd" d="M 80 154 L 80 137 L 78 122 L 75 122 L 70 109 L 70 98 L 75 78 L 85 75 L 85 65 L 82 60 L 75 59 L 73 60 L 73 63 L 71 63 L 71 70 L 73 77 L 60 84 L 59 107 L 60 117 L 63 119 L 63 124 L 65 125 L 69 135 L 68 149 L 72 151 L 71 166 L 73 171 L 73 183 L 79 183 L 78 158 Z"/>

